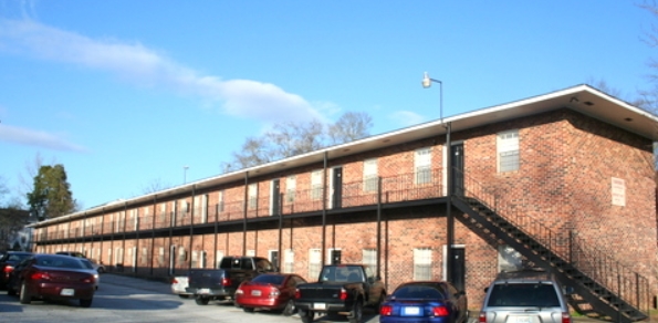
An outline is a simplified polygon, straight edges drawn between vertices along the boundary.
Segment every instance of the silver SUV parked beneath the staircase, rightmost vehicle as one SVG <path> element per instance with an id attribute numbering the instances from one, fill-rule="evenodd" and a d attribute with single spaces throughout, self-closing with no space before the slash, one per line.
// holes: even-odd
<path id="1" fill-rule="evenodd" d="M 571 323 L 565 293 L 551 272 L 501 272 L 484 290 L 480 323 Z"/>

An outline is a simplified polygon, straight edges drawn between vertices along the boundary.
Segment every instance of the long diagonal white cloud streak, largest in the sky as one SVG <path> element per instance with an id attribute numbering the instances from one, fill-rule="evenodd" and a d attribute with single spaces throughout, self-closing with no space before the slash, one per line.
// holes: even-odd
<path id="1" fill-rule="evenodd" d="M 0 50 L 106 71 L 144 86 L 163 86 L 221 103 L 227 114 L 264 122 L 324 119 L 311 103 L 250 80 L 200 75 L 140 43 L 94 40 L 32 20 L 0 19 Z"/>

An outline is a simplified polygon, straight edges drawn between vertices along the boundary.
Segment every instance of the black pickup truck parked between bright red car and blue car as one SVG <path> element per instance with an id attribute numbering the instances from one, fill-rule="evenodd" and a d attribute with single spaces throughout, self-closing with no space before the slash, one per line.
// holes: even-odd
<path id="1" fill-rule="evenodd" d="M 295 308 L 302 322 L 315 313 L 347 315 L 349 323 L 361 323 L 364 306 L 379 309 L 386 298 L 382 279 L 365 264 L 324 265 L 317 282 L 297 285 Z"/>

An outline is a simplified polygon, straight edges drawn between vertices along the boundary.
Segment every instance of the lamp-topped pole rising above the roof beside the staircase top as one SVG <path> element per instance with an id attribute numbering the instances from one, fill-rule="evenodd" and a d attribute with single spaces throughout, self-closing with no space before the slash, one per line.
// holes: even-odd
<path id="1" fill-rule="evenodd" d="M 428 88 L 431 86 L 431 83 L 439 83 L 439 95 L 440 95 L 440 118 L 441 123 L 443 123 L 443 82 L 439 80 L 435 80 L 429 77 L 427 72 L 425 72 L 425 76 L 422 77 L 422 87 Z M 449 282 L 453 282 L 452 279 L 452 263 L 455 260 L 452 259 L 452 246 L 455 244 L 455 219 L 452 218 L 452 144 L 450 142 L 450 133 L 452 131 L 451 123 L 443 124 L 446 127 L 446 185 L 448 189 L 446 191 L 446 280 Z"/>

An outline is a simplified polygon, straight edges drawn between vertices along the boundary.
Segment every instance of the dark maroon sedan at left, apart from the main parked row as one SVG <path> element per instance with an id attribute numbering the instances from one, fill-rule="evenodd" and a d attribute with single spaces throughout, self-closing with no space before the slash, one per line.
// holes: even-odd
<path id="1" fill-rule="evenodd" d="M 22 304 L 30 304 L 38 299 L 76 299 L 82 308 L 88 308 L 94 299 L 94 275 L 80 259 L 35 253 L 14 268 L 7 293 L 18 293 Z"/>

